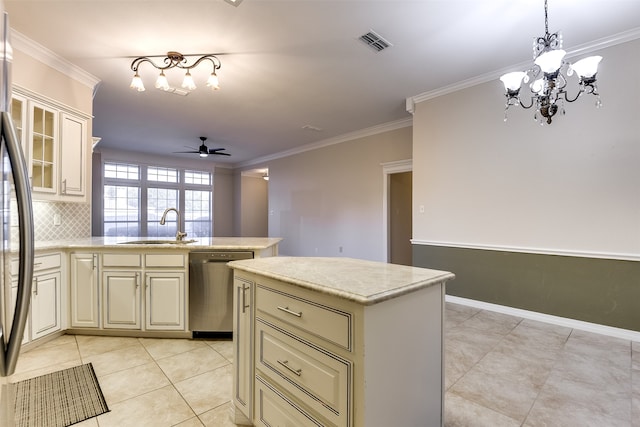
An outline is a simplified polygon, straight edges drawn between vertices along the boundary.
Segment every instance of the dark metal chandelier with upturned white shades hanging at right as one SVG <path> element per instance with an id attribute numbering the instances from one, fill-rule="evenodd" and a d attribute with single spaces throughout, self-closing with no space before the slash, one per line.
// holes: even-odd
<path id="1" fill-rule="evenodd" d="M 544 2 L 544 37 L 533 41 L 534 65 L 526 71 L 515 71 L 500 77 L 505 87 L 507 102 L 504 107 L 504 120 L 507 121 L 507 110 L 512 105 L 519 104 L 529 109 L 535 107 L 534 120 L 541 125 L 546 121 L 551 124 L 558 111 L 565 114 L 564 102 L 574 102 L 582 94 L 592 94 L 596 97 L 596 107 L 601 107 L 600 94 L 596 86 L 596 73 L 601 56 L 590 56 L 575 64 L 564 60 L 567 52 L 562 50 L 562 34 L 549 34 L 549 19 L 547 17 L 547 0 Z M 570 97 L 566 91 L 568 78 L 577 75 L 578 91 Z M 525 104 L 520 98 L 523 85 L 528 85 L 531 91 L 530 102 Z"/>

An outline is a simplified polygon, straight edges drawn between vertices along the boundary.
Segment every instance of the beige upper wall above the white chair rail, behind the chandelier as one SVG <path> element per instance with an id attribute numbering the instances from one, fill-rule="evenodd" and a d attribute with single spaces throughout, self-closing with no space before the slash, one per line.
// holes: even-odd
<path id="1" fill-rule="evenodd" d="M 417 104 L 414 238 L 640 256 L 640 40 L 599 54 L 604 107 L 549 126 L 515 107 L 504 123 L 498 80 Z"/>

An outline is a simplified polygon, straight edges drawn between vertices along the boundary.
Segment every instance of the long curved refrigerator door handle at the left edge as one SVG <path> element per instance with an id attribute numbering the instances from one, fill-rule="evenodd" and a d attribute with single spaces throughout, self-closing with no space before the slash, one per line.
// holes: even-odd
<path id="1" fill-rule="evenodd" d="M 33 211 L 31 203 L 31 190 L 29 188 L 29 178 L 27 166 L 22 156 L 22 148 L 18 142 L 16 130 L 11 121 L 11 115 L 7 111 L 0 112 L 2 120 L 0 122 L 0 136 L 7 147 L 7 155 L 11 162 L 11 173 L 16 192 L 18 204 L 18 224 L 20 264 L 18 268 L 18 294 L 16 298 L 16 309 L 11 325 L 11 334 L 7 342 L 6 350 L 2 349 L 3 360 L 0 361 L 0 375 L 9 376 L 15 372 L 20 354 L 20 345 L 24 335 L 27 315 L 29 313 L 29 303 L 31 301 L 31 281 L 33 280 Z M 7 325 L 8 326 L 8 325 Z M 3 345 L 4 347 L 4 345 Z"/>

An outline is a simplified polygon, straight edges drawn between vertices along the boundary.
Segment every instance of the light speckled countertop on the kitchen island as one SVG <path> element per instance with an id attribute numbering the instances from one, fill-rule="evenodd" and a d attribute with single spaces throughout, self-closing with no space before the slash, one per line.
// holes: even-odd
<path id="1" fill-rule="evenodd" d="M 455 278 L 447 271 L 353 258 L 271 257 L 232 261 L 229 266 L 363 305 Z"/>

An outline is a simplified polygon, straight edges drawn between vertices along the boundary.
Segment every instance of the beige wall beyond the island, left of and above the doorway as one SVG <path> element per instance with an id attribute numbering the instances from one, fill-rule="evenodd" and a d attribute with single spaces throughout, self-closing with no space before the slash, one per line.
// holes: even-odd
<path id="1" fill-rule="evenodd" d="M 410 159 L 411 140 L 406 127 L 264 165 L 280 254 L 386 261 L 381 163 Z"/>

